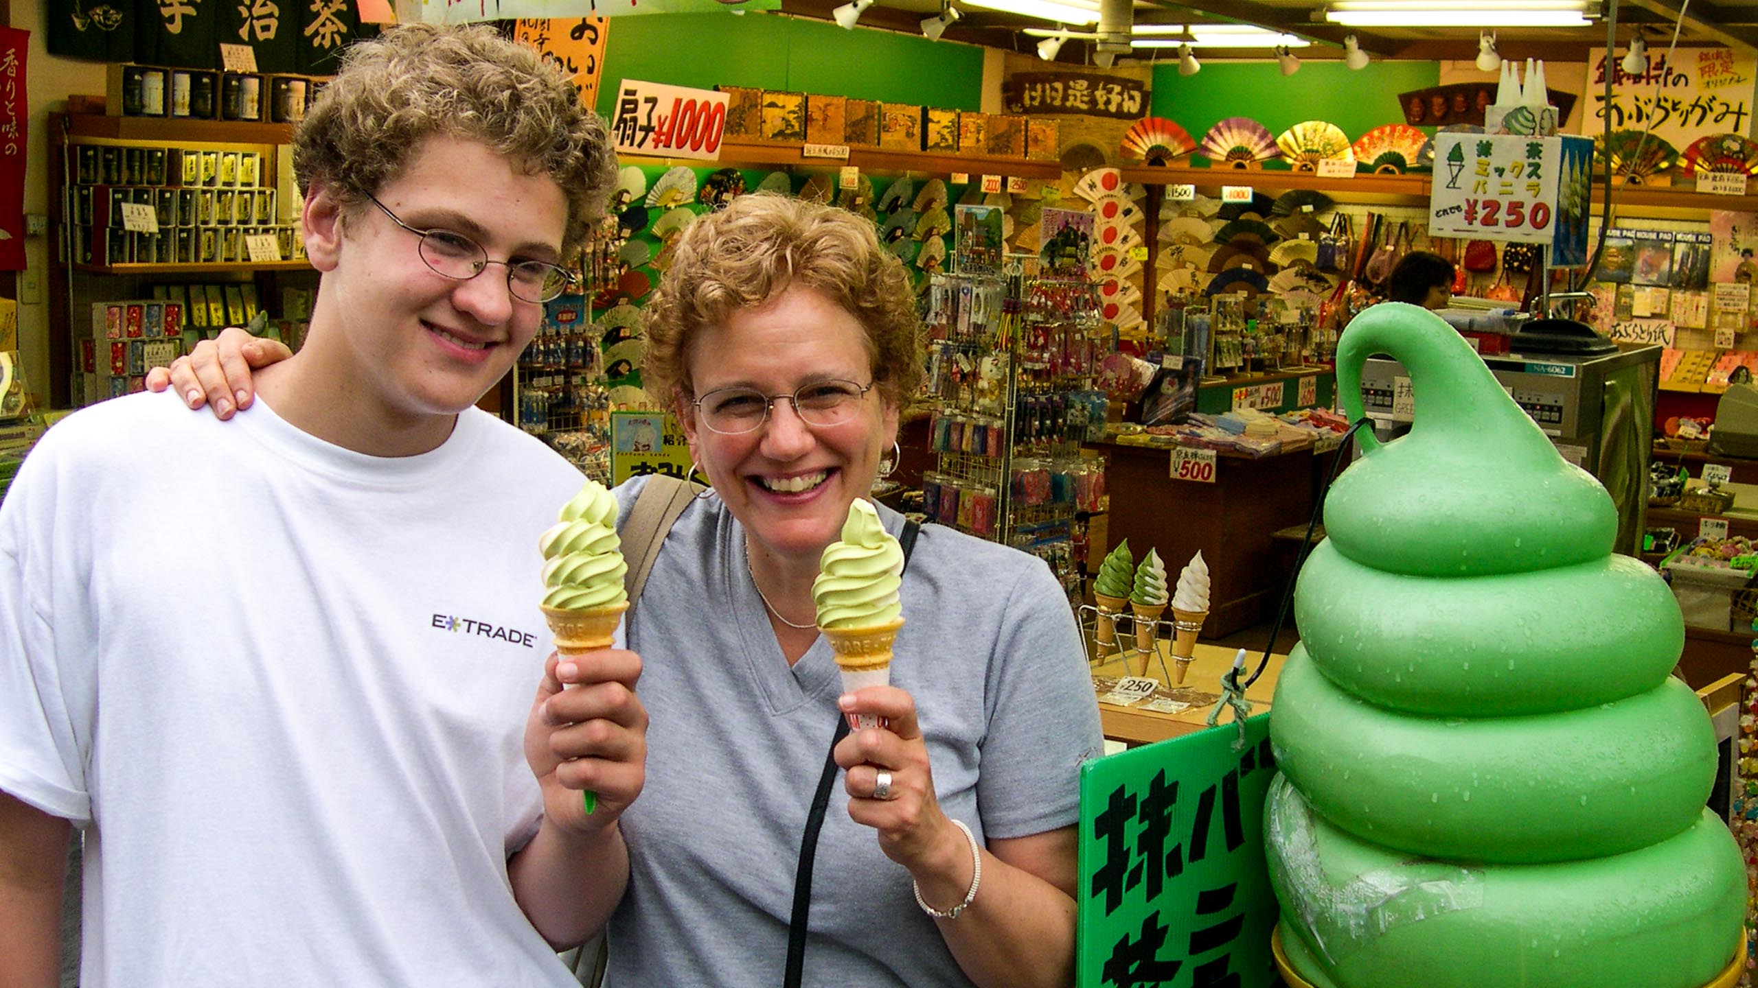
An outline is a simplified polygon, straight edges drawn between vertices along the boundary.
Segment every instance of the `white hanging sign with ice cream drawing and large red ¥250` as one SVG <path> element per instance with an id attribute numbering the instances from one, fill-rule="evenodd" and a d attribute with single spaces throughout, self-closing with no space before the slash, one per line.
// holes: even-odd
<path id="1" fill-rule="evenodd" d="M 1551 246 L 1552 267 L 1587 260 L 1593 141 L 1435 135 L 1429 232 Z"/>

